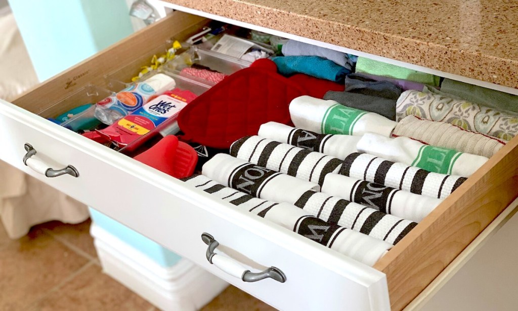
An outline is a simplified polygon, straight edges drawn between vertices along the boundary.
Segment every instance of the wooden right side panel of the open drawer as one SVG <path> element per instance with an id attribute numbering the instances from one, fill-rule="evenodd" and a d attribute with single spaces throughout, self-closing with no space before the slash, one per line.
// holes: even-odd
<path id="1" fill-rule="evenodd" d="M 387 275 L 392 309 L 410 303 L 517 196 L 514 137 L 375 265 Z"/>

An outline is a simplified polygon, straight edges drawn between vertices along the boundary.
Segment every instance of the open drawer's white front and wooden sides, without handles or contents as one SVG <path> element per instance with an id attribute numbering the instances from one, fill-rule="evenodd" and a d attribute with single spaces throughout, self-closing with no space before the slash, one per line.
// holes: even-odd
<path id="1" fill-rule="evenodd" d="M 283 310 L 402 309 L 518 195 L 518 137 L 473 174 L 375 266 L 369 267 L 192 189 L 183 182 L 54 124 L 56 105 L 106 73 L 148 60 L 170 38 L 207 20 L 176 11 L 46 81 L 13 104 L 1 102 L 0 159 L 146 235 L 215 275 Z M 79 175 L 48 178 L 24 165 L 25 144 L 41 163 L 73 165 Z M 45 168 L 42 171 L 45 173 Z M 252 271 L 275 266 L 285 282 L 243 282 L 206 259 L 202 234 Z"/>

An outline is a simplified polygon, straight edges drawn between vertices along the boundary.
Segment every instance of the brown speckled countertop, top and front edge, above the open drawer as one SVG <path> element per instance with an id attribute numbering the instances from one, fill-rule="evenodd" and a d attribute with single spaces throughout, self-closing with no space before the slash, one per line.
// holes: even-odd
<path id="1" fill-rule="evenodd" d="M 167 1 L 269 29 L 518 89 L 518 2 Z"/>

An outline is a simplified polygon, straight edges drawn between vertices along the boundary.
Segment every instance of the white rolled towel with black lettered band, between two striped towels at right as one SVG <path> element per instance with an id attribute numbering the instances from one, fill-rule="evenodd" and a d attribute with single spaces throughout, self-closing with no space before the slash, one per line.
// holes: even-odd
<path id="1" fill-rule="evenodd" d="M 415 222 L 423 220 L 442 202 L 442 199 L 435 197 L 339 174 L 325 176 L 322 192 Z"/>

